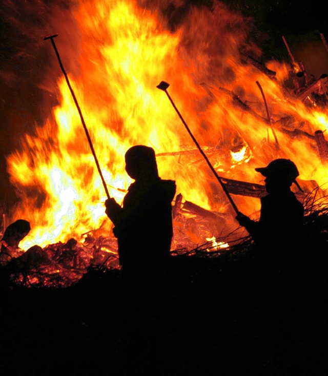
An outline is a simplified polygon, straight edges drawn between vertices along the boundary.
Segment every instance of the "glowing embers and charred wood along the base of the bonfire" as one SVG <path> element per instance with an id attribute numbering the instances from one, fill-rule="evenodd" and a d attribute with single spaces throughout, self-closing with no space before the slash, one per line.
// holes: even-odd
<path id="1" fill-rule="evenodd" d="M 237 186 L 252 185 L 241 183 L 237 182 Z M 303 187 L 305 189 L 306 185 Z M 320 254 L 319 258 L 326 260 L 328 201 L 320 191 L 317 187 L 302 199 L 305 207 L 304 232 L 313 257 Z M 252 194 L 261 197 L 263 187 L 253 187 Z M 178 194 L 173 205 L 173 216 L 175 234 L 172 257 L 218 259 L 220 267 L 227 261 L 240 262 L 253 257 L 252 239 L 243 228 L 229 232 L 226 227 L 227 214 L 208 211 L 190 201 L 182 203 L 182 195 Z M 2 277 L 7 276 L 5 283 L 10 281 L 11 285 L 58 288 L 77 283 L 91 269 L 103 273 L 118 268 L 116 238 L 93 237 L 90 232 L 81 244 L 71 238 L 65 244 L 30 247 L 2 268 Z"/>

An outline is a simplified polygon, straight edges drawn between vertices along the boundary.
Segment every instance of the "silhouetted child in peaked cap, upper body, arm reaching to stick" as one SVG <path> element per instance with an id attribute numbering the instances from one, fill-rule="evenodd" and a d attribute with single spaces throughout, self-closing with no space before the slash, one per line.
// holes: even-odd
<path id="1" fill-rule="evenodd" d="M 261 198 L 260 219 L 253 221 L 242 213 L 236 219 L 247 229 L 255 244 L 267 249 L 274 247 L 276 254 L 284 249 L 292 253 L 301 237 L 304 216 L 302 203 L 291 191 L 293 183 L 300 189 L 296 182 L 297 167 L 290 159 L 281 158 L 255 170 L 265 176 L 268 193 Z"/>

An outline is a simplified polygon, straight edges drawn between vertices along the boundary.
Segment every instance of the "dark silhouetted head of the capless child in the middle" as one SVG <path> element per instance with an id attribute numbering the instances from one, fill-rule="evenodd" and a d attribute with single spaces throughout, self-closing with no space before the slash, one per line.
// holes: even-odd
<path id="1" fill-rule="evenodd" d="M 126 172 L 136 180 L 152 180 L 158 178 L 155 152 L 145 145 L 136 145 L 125 154 Z"/>

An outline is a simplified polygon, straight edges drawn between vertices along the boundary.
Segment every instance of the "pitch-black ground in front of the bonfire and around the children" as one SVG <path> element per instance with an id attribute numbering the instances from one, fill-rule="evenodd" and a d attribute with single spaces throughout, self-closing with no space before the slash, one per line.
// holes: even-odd
<path id="1" fill-rule="evenodd" d="M 118 270 L 91 269 L 68 288 L 5 286 L 0 372 L 328 374 L 325 277 L 311 276 L 313 294 L 292 311 L 297 324 L 281 330 L 252 273 L 244 261 L 172 257 L 165 308 L 144 337 L 125 336 L 120 324 Z"/>

